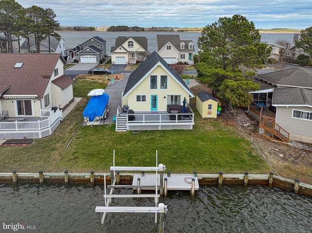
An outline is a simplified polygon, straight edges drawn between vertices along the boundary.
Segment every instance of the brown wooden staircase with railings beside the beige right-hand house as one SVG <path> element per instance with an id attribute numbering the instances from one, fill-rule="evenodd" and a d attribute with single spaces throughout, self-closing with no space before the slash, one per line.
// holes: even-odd
<path id="1" fill-rule="evenodd" d="M 264 134 L 277 142 L 289 143 L 289 132 L 275 123 L 275 118 L 260 115 L 259 127 L 264 129 Z"/>

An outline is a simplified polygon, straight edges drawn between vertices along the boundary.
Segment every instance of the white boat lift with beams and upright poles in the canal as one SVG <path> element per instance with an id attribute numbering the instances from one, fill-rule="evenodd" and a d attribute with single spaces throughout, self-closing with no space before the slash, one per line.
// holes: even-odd
<path id="1" fill-rule="evenodd" d="M 106 175 L 104 174 L 104 199 L 105 206 L 96 207 L 97 215 L 97 233 L 100 233 L 100 223 L 104 224 L 106 213 L 155 213 L 155 223 L 157 223 L 157 213 L 159 213 L 159 233 L 163 233 L 164 221 L 163 216 L 167 213 L 167 205 L 164 203 L 158 204 L 158 188 L 160 188 L 160 194 L 162 194 L 163 187 L 163 173 L 166 170 L 166 166 L 158 164 L 157 151 L 156 151 L 156 167 L 127 167 L 127 166 L 115 166 L 115 150 L 113 156 L 113 166 L 111 166 L 111 185 L 107 185 L 110 188 L 110 193 L 106 194 Z M 118 171 L 118 173 L 116 173 Z M 140 178 L 137 179 L 137 185 L 119 185 L 119 171 L 151 171 L 156 172 L 155 174 L 155 185 L 140 185 Z M 160 185 L 158 184 L 158 172 L 160 172 Z M 151 174 L 151 176 L 153 176 Z M 117 183 L 118 182 L 118 183 Z M 116 188 L 136 188 L 137 194 L 114 194 Z M 141 194 L 141 188 L 155 189 L 155 194 Z M 155 198 L 155 206 L 153 207 L 120 207 L 120 206 L 109 206 L 112 198 Z M 103 213 L 102 219 L 100 214 Z"/>

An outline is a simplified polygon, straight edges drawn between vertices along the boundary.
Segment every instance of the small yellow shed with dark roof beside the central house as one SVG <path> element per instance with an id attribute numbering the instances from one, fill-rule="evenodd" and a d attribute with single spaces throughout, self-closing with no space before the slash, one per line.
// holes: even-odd
<path id="1" fill-rule="evenodd" d="M 202 118 L 216 118 L 218 101 L 208 92 L 201 91 L 196 95 L 196 109 Z"/>

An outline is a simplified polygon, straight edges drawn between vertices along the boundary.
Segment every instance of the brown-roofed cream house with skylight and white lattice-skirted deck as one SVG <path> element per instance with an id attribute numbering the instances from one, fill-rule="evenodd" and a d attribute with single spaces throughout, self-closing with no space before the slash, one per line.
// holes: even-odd
<path id="1" fill-rule="evenodd" d="M 60 54 L 0 54 L 0 60 L 0 113 L 7 112 L 0 140 L 50 135 L 74 100 L 65 60 Z"/>

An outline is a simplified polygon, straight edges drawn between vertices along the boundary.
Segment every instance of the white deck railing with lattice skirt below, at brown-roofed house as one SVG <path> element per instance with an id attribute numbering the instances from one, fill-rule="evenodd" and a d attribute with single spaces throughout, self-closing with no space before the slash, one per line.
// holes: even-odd
<path id="1" fill-rule="evenodd" d="M 49 116 L 45 120 L 33 122 L 0 122 L 0 140 L 3 139 L 23 139 L 23 138 L 43 138 L 52 134 L 52 132 L 63 120 L 61 110 L 56 112 L 41 110 L 40 115 Z M 57 125 L 57 126 L 56 126 Z"/>

